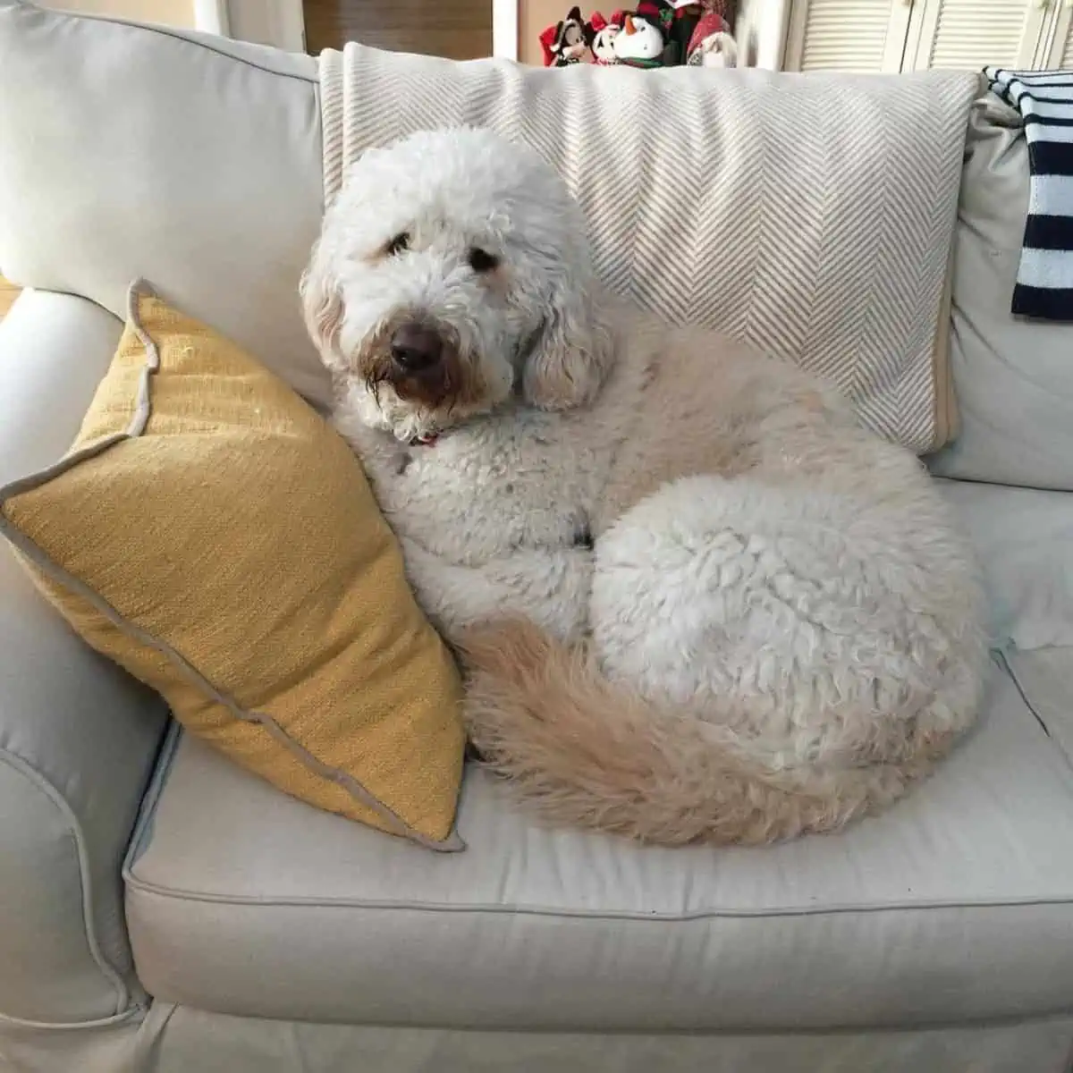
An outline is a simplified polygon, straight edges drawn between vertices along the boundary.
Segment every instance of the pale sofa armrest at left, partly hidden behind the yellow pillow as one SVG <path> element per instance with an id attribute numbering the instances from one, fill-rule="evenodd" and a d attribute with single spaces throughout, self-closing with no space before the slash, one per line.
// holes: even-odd
<path id="1" fill-rule="evenodd" d="M 18 298 L 0 323 L 0 484 L 63 454 L 121 327 L 82 298 Z M 166 720 L 0 541 L 0 1029 L 108 1020 L 144 1001 L 120 868 Z"/>

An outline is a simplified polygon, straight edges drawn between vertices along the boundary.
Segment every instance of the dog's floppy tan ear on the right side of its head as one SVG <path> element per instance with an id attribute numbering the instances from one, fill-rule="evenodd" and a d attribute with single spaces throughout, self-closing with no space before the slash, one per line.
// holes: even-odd
<path id="1" fill-rule="evenodd" d="M 596 286 L 572 277 L 557 285 L 523 372 L 532 406 L 570 410 L 596 397 L 614 350 L 603 306 Z"/>

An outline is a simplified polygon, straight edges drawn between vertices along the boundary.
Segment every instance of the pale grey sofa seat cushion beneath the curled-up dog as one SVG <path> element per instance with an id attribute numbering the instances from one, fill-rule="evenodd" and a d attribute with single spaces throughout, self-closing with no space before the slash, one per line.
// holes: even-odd
<path id="1" fill-rule="evenodd" d="M 561 1031 L 1026 1017 L 1073 1010 L 1071 824 L 1073 768 L 998 665 L 979 729 L 914 794 L 764 850 L 543 828 L 473 769 L 469 849 L 429 854 L 176 737 L 128 861 L 128 921 L 150 994 L 247 1016 Z"/>

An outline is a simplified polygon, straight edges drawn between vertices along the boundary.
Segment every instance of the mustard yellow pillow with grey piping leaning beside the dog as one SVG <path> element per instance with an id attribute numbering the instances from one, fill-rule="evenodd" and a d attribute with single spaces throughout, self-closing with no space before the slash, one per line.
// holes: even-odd
<path id="1" fill-rule="evenodd" d="M 143 283 L 70 453 L 0 532 L 95 649 L 280 790 L 439 850 L 457 670 L 357 459 L 286 384 Z"/>

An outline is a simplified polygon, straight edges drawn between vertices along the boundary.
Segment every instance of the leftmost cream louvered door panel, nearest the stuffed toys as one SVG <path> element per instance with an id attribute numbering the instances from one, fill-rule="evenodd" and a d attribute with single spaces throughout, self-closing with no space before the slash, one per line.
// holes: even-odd
<path id="1" fill-rule="evenodd" d="M 788 71 L 897 71 L 909 8 L 901 0 L 796 0 Z"/>

